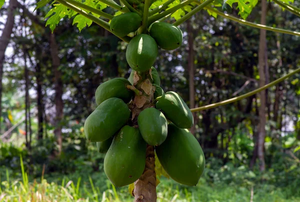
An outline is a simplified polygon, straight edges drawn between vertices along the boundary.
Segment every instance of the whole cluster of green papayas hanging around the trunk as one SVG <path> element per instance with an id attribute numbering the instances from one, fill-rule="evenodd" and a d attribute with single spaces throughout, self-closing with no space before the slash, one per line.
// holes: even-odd
<path id="1" fill-rule="evenodd" d="M 136 34 L 140 26 L 136 13 L 121 14 L 110 22 L 111 31 L 120 37 Z M 153 67 L 158 47 L 174 50 L 181 43 L 179 28 L 154 22 L 127 46 L 126 60 L 132 68 L 128 80 L 114 78 L 96 89 L 97 108 L 85 120 L 84 133 L 100 153 L 106 153 L 104 172 L 117 187 L 142 175 L 147 145 L 155 147 L 160 164 L 175 181 L 196 185 L 203 173 L 203 151 L 188 131 L 192 113 L 177 93 L 163 92 Z"/>

